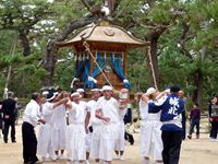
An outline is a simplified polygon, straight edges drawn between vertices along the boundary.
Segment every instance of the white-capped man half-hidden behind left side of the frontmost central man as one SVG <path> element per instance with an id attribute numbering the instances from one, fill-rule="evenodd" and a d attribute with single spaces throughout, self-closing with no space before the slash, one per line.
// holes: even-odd
<path id="1" fill-rule="evenodd" d="M 101 120 L 96 118 L 96 105 L 97 101 L 100 97 L 99 89 L 92 90 L 92 99 L 87 103 L 88 113 L 90 113 L 90 119 L 88 124 L 88 133 L 86 137 L 86 151 L 90 152 L 93 157 L 96 161 L 96 164 L 99 164 L 99 148 L 100 148 L 100 133 L 101 133 Z"/>

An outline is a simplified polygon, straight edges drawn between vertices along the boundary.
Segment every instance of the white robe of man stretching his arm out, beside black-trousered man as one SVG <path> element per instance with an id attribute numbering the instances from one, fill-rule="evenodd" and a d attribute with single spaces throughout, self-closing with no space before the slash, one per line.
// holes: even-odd
<path id="1" fill-rule="evenodd" d="M 51 132 L 52 132 L 52 103 L 46 102 L 43 105 L 43 119 L 46 120 L 45 125 L 40 125 L 38 132 L 38 142 L 37 142 L 37 154 L 41 156 L 52 156 L 52 147 L 51 147 Z"/>

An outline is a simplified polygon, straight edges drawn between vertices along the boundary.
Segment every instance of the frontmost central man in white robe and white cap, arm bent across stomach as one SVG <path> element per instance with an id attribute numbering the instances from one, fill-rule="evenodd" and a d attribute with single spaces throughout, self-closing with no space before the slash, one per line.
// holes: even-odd
<path id="1" fill-rule="evenodd" d="M 102 120 L 100 134 L 99 157 L 106 164 L 112 163 L 114 141 L 118 139 L 119 109 L 124 109 L 120 103 L 112 97 L 112 87 L 102 87 L 104 96 L 97 102 L 96 117 Z"/>

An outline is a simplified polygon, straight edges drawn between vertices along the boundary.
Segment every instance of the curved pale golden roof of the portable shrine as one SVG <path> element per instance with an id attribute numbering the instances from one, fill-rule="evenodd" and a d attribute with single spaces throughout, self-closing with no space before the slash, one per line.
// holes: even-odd
<path id="1" fill-rule="evenodd" d="M 148 42 L 135 38 L 129 34 L 124 28 L 114 25 L 93 25 L 83 28 L 73 38 L 58 44 L 60 47 L 73 46 L 77 43 L 110 43 L 126 45 L 128 48 L 148 46 Z"/>

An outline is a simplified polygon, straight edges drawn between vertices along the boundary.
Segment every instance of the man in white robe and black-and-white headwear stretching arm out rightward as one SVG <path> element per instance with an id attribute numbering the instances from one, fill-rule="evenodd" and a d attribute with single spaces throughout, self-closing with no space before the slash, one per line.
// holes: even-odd
<path id="1" fill-rule="evenodd" d="M 47 95 L 47 102 L 43 106 L 43 119 L 46 121 L 45 125 L 40 125 L 39 134 L 38 134 L 38 143 L 37 143 L 37 154 L 43 156 L 44 161 L 49 161 L 49 157 L 52 160 L 57 160 L 53 156 L 52 145 L 51 145 L 51 132 L 52 132 L 52 113 L 53 109 L 61 104 L 65 104 L 69 98 L 62 98 L 58 102 L 55 102 L 57 94 L 52 91 L 49 91 Z"/>

